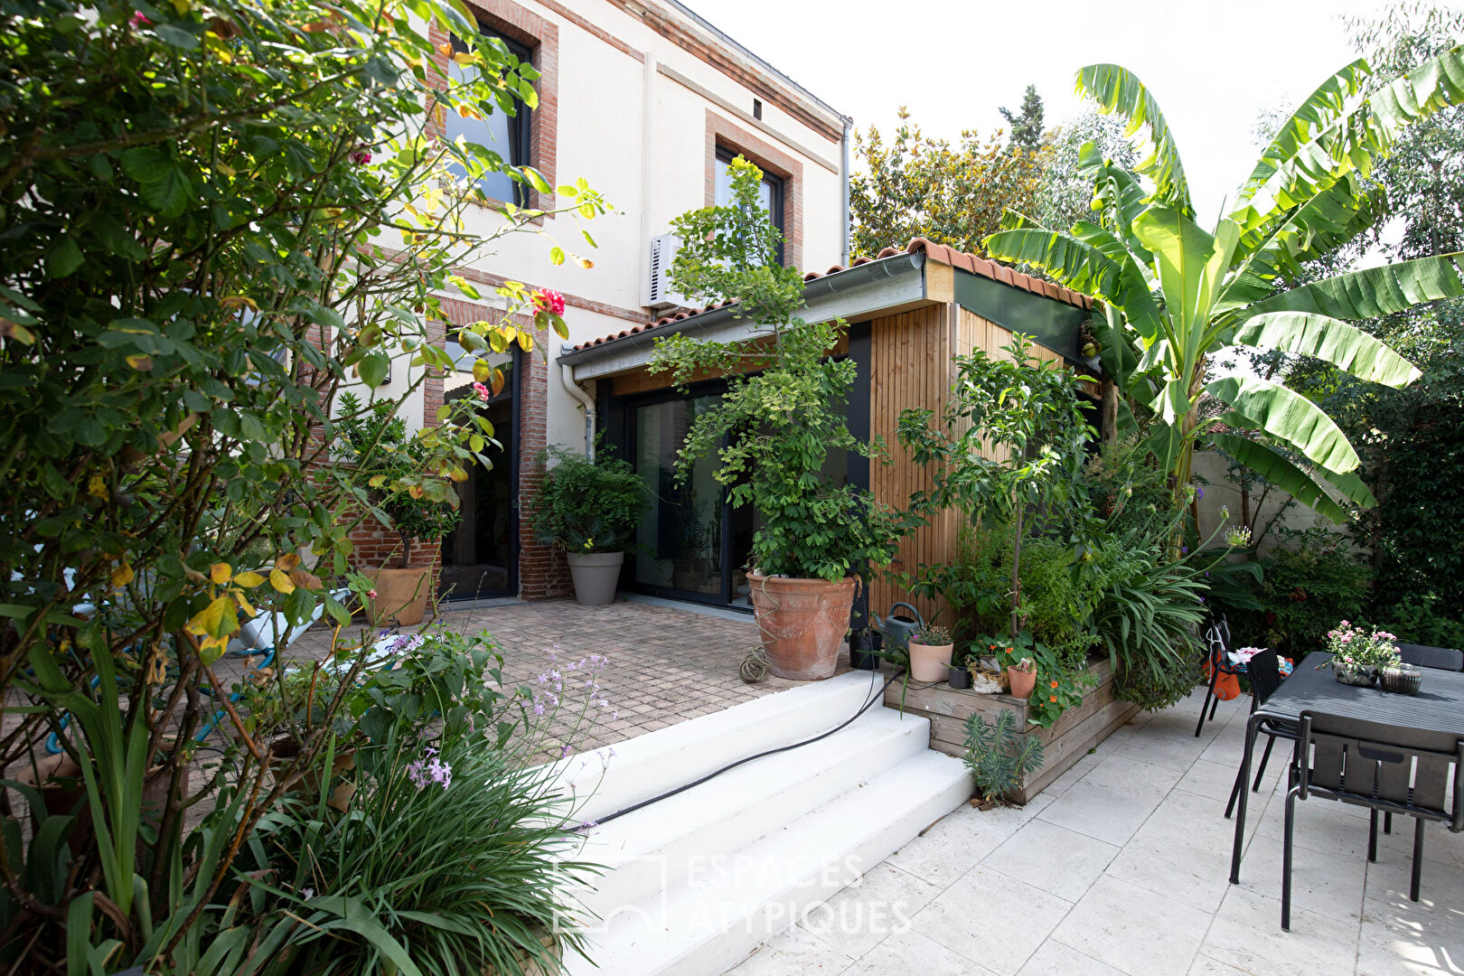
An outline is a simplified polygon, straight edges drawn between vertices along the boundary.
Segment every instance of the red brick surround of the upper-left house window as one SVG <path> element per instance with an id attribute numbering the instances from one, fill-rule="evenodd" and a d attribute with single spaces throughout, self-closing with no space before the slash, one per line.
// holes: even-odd
<path id="1" fill-rule="evenodd" d="M 539 70 L 539 80 L 534 82 L 539 105 L 529 120 L 527 164 L 539 170 L 552 187 L 555 184 L 555 164 L 559 157 L 559 28 L 537 13 L 512 3 L 512 0 L 466 1 L 479 23 L 523 44 L 530 51 L 530 60 Z M 435 88 L 447 88 L 448 56 L 442 51 L 451 50 L 451 34 L 433 20 L 427 26 L 427 38 L 435 48 L 432 63 L 438 67 L 436 72 L 427 73 L 429 83 Z M 445 111 L 445 108 L 439 107 L 438 111 Z M 441 119 L 429 121 L 427 135 L 441 138 Z M 553 209 L 553 193 L 540 193 L 530 187 L 529 208 Z"/>

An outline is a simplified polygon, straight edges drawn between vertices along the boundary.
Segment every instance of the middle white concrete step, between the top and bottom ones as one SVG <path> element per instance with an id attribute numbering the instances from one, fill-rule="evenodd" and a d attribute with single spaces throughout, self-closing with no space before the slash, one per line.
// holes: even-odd
<path id="1" fill-rule="evenodd" d="M 928 745 L 924 718 L 902 721 L 875 705 L 827 739 L 627 814 L 590 833 L 581 856 L 606 874 L 581 901 L 603 917 L 616 906 L 684 884 L 709 859 L 754 844 Z"/>

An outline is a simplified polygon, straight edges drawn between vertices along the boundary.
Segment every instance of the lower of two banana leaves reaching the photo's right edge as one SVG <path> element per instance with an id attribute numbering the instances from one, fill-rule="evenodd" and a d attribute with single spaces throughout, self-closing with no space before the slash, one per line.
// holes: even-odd
<path id="1" fill-rule="evenodd" d="M 1313 281 L 1256 301 L 1250 316 L 1266 312 L 1315 312 L 1334 319 L 1370 319 L 1422 301 L 1464 296 L 1458 260 L 1464 253 L 1401 260 Z"/>

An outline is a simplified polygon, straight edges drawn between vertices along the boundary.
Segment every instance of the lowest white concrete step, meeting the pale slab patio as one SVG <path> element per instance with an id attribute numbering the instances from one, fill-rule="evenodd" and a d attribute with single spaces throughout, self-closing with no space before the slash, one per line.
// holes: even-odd
<path id="1" fill-rule="evenodd" d="M 701 859 L 681 884 L 602 916 L 589 934 L 593 963 L 574 957 L 567 972 L 716 976 L 969 796 L 960 761 L 930 749 L 902 758 L 761 840 Z"/>

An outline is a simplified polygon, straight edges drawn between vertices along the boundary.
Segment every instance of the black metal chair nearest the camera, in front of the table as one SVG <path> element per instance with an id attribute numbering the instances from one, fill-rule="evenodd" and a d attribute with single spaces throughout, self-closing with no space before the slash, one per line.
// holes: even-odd
<path id="1" fill-rule="evenodd" d="M 1448 824 L 1454 833 L 1464 831 L 1464 739 L 1321 711 L 1303 711 L 1297 733 L 1291 789 L 1285 795 L 1281 928 L 1291 931 L 1291 834 L 1296 828 L 1296 802 L 1313 795 L 1370 809 L 1369 860 L 1378 859 L 1379 811 L 1414 818 L 1408 897 L 1417 901 L 1424 822 L 1433 819 Z"/>

